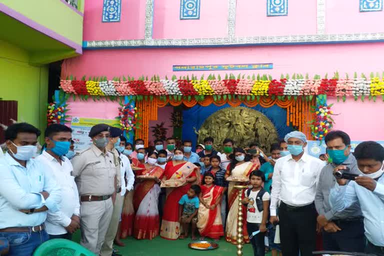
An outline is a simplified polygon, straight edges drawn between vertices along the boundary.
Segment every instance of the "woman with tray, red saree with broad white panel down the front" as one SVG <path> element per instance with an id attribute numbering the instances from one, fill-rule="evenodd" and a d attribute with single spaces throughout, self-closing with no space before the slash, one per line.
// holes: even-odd
<path id="1" fill-rule="evenodd" d="M 139 182 L 134 188 L 133 208 L 134 218 L 133 237 L 149 239 L 158 235 L 160 218 L 158 215 L 158 183 L 164 174 L 164 169 L 156 166 L 157 153 L 149 152 L 145 169 L 136 176 Z"/>

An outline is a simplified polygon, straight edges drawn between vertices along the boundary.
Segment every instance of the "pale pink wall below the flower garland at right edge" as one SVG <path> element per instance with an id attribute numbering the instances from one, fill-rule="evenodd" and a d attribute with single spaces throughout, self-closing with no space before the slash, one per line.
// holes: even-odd
<path id="1" fill-rule="evenodd" d="M 374 114 L 384 112 L 384 103 L 381 98 L 364 102 L 354 101 L 352 97 L 345 102 L 336 98 L 329 98 L 328 104 L 333 103 L 333 112 L 338 114 L 332 116 L 335 123 L 333 129 L 340 129 L 349 134 L 352 140 L 384 140 L 382 127 L 384 119 Z"/>

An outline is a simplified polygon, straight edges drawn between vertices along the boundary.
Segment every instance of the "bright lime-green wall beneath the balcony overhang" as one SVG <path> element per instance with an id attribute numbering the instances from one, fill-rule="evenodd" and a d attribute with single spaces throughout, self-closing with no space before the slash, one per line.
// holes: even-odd
<path id="1" fill-rule="evenodd" d="M 28 52 L 0 40 L 0 98 L 17 100 L 18 120 L 46 125 L 48 66 L 28 64 Z"/>

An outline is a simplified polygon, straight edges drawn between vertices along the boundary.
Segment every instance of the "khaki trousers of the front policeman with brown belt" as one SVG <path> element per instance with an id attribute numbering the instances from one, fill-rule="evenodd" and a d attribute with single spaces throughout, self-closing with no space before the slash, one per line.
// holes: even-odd
<path id="1" fill-rule="evenodd" d="M 80 244 L 96 255 L 100 252 L 112 211 L 111 198 L 103 201 L 84 201 L 80 204 Z"/>

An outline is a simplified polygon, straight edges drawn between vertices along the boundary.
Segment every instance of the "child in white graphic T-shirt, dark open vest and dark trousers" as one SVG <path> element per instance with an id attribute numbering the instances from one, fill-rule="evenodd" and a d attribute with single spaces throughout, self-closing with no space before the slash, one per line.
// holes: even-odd
<path id="1" fill-rule="evenodd" d="M 249 174 L 249 180 L 252 188 L 245 191 L 246 197 L 241 202 L 247 206 L 246 227 L 253 247 L 253 255 L 264 256 L 264 236 L 269 213 L 270 195 L 261 186 L 265 180 L 263 172 L 260 170 L 252 171 Z M 259 232 L 253 235 L 252 233 L 255 231 Z"/>

